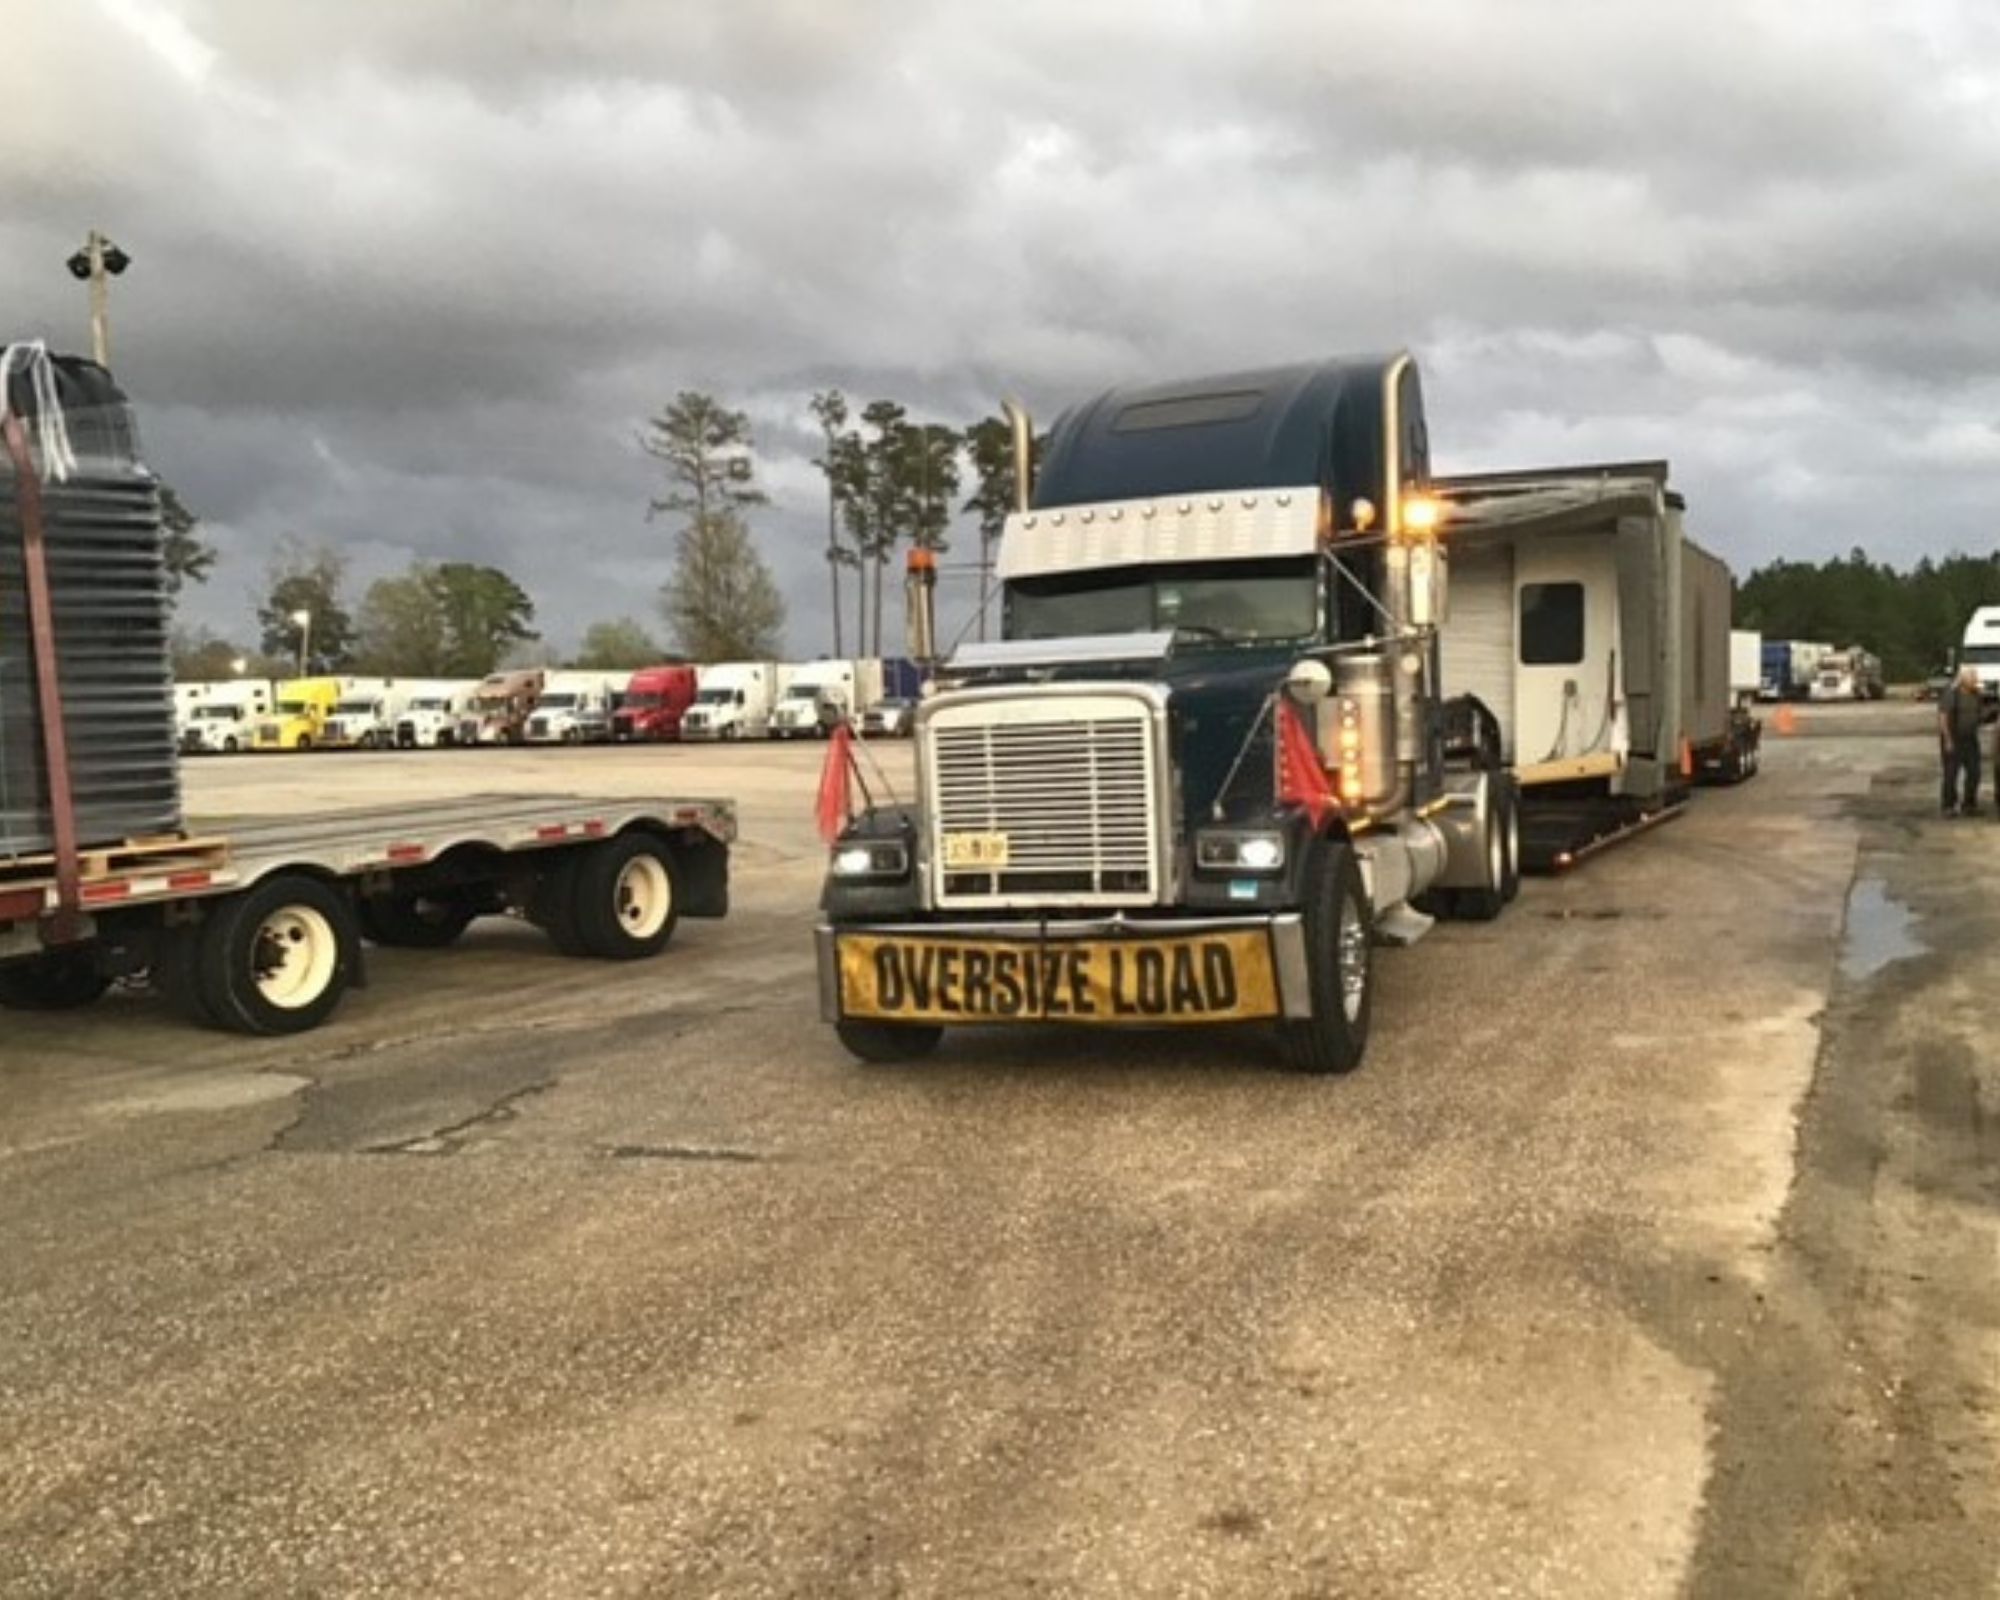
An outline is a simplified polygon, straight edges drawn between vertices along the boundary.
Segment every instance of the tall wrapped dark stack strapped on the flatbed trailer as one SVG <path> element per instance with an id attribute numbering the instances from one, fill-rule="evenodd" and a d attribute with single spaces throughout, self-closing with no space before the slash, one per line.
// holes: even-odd
<path id="1" fill-rule="evenodd" d="M 48 378 L 54 378 L 50 384 Z M 160 492 L 140 460 L 132 408 L 110 374 L 52 358 L 44 380 L 8 380 L 42 478 L 58 684 L 78 838 L 110 846 L 180 828 L 170 610 Z M 60 404 L 76 468 L 58 480 L 38 424 Z M 54 848 L 20 500 L 0 450 L 0 860 Z"/>

